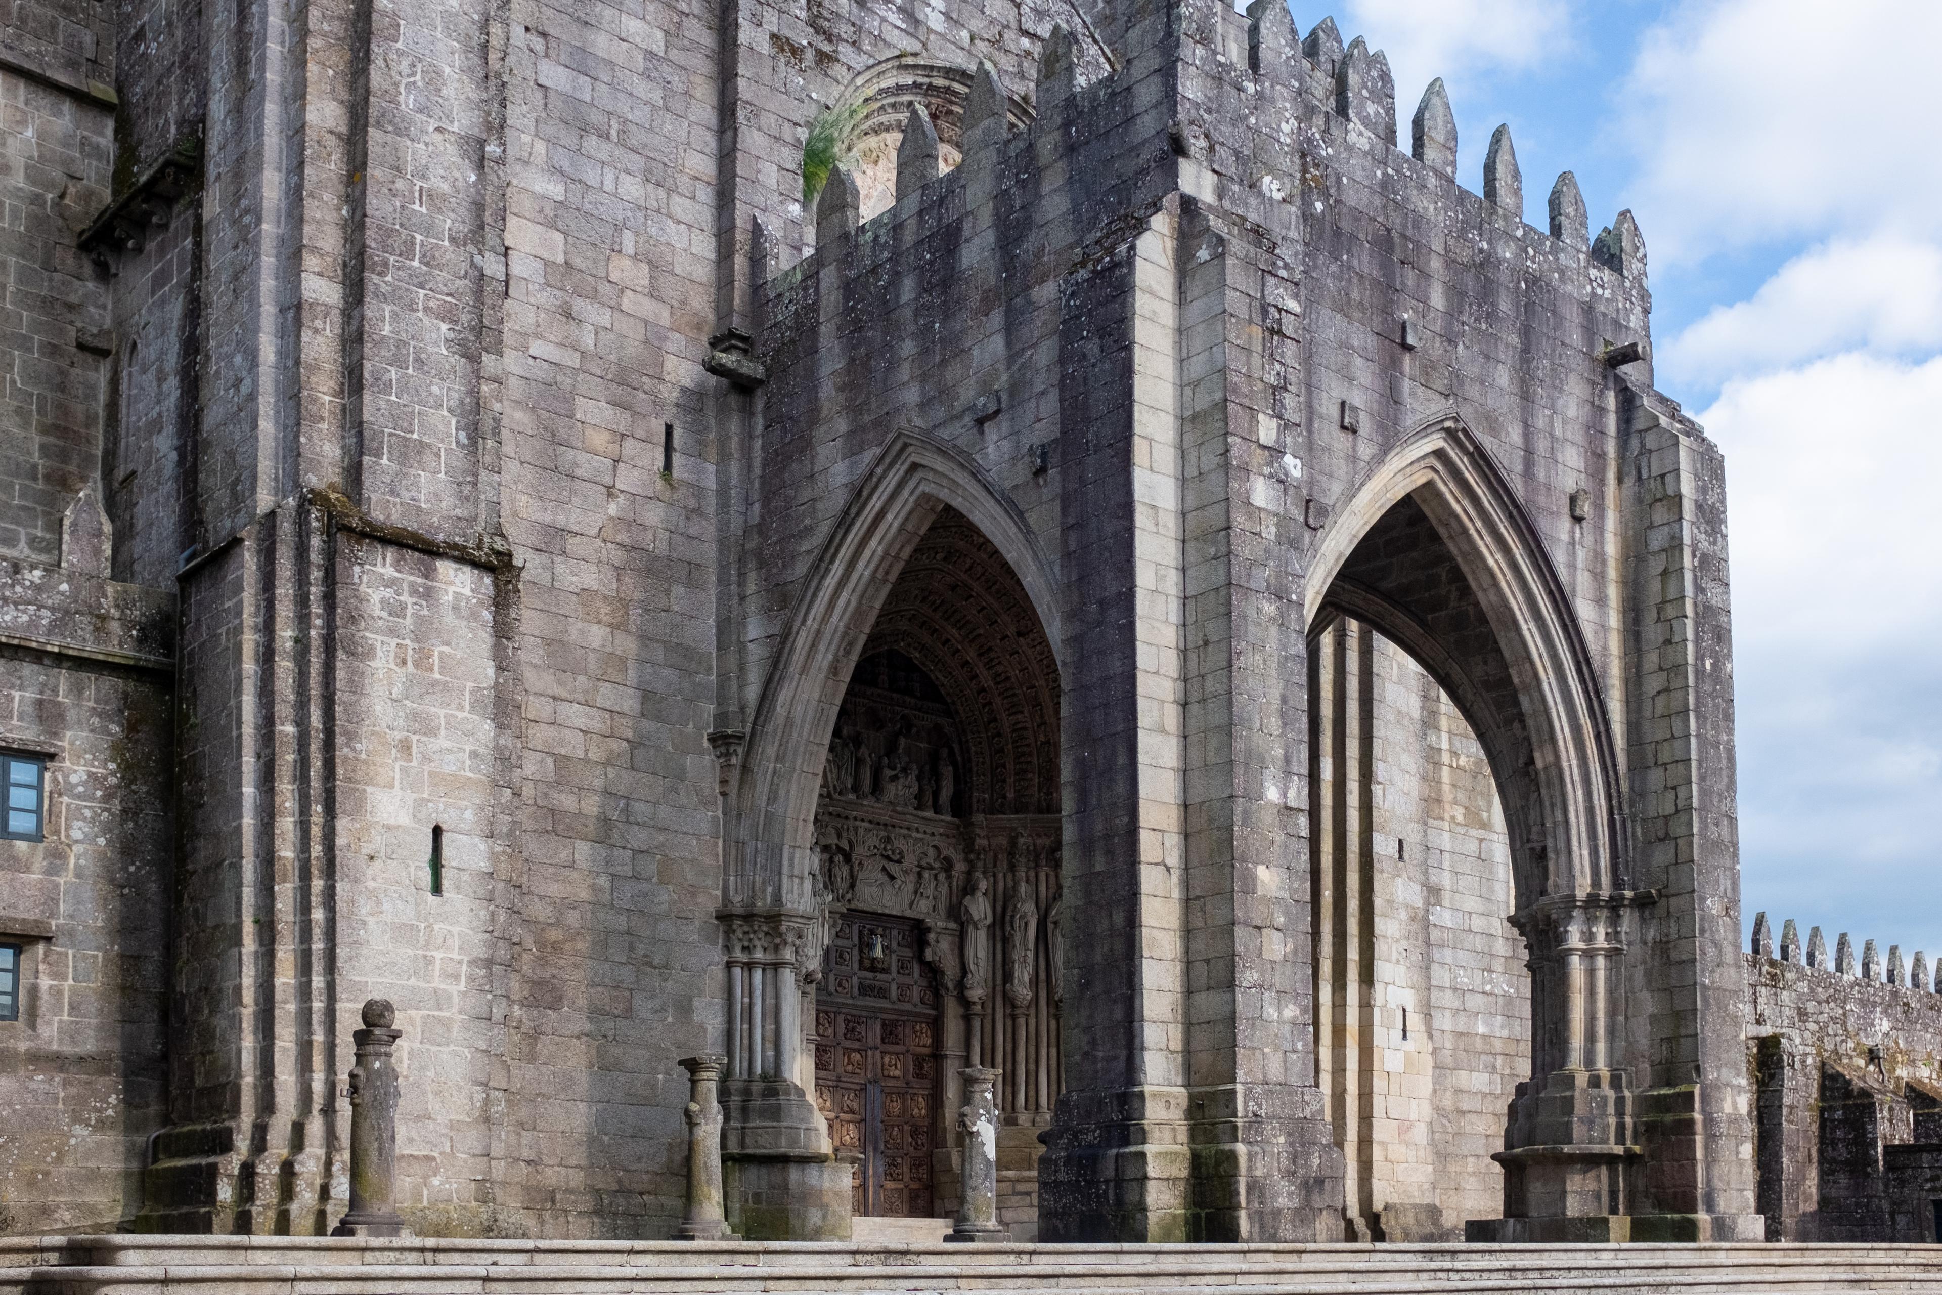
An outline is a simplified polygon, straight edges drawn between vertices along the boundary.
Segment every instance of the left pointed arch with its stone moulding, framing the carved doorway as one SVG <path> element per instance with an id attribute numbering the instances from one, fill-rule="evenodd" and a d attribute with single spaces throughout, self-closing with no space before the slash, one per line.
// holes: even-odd
<path id="1" fill-rule="evenodd" d="M 1004 491 L 911 431 L 802 581 L 726 788 L 732 1194 L 835 1153 L 853 1213 L 950 1213 L 969 1064 L 1004 1072 L 1006 1221 L 1035 1215 L 1062 1074 L 1053 588 Z"/>

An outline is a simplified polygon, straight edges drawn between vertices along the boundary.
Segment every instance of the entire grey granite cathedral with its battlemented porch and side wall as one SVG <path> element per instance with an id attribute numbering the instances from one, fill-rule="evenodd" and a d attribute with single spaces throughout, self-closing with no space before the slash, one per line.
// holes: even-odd
<path id="1" fill-rule="evenodd" d="M 1742 953 L 1645 243 L 1441 82 L 16 0 L 0 105 L 0 1231 L 328 1231 L 373 996 L 423 1235 L 668 1235 L 711 1052 L 746 1237 L 948 1215 L 965 1066 L 1023 1239 L 1932 1229 L 1926 963 Z"/>

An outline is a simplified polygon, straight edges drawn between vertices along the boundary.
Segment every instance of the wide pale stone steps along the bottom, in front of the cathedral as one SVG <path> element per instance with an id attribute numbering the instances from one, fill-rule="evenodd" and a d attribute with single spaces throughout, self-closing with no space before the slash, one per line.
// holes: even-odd
<path id="1" fill-rule="evenodd" d="M 0 1295 L 662 1295 L 709 1291 L 1464 1295 L 1934 1291 L 1942 1246 L 955 1246 L 0 1239 Z"/>

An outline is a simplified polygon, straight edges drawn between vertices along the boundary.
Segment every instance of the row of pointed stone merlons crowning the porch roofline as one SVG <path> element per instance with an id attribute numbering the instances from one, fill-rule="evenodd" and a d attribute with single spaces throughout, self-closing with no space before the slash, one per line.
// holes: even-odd
<path id="1" fill-rule="evenodd" d="M 1385 181 L 1392 188 L 1408 190 L 1394 194 L 1404 206 L 1427 204 L 1431 210 L 1455 212 L 1460 223 L 1476 225 L 1478 235 L 1484 227 L 1495 225 L 1521 237 L 1532 256 L 1548 256 L 1559 268 L 1573 266 L 1583 274 L 1575 295 L 1600 303 L 1610 303 L 1614 297 L 1625 301 L 1629 322 L 1643 330 L 1649 311 L 1645 243 L 1631 214 L 1620 212 L 1610 225 L 1590 237 L 1577 177 L 1565 171 L 1550 190 L 1548 229 L 1524 225 L 1523 175 L 1507 124 L 1499 124 L 1490 136 L 1482 192 L 1458 184 L 1458 132 L 1441 78 L 1422 93 L 1410 122 L 1408 149 L 1402 149 L 1396 144 L 1396 85 L 1387 56 L 1369 49 L 1363 37 L 1344 45 L 1334 19 L 1324 17 L 1303 37 L 1284 4 L 1260 0 L 1245 16 L 1208 12 L 1204 27 L 1190 25 L 1192 37 L 1204 45 L 1194 50 L 1192 60 L 1183 62 L 1187 72 L 1171 87 L 1177 95 L 1173 107 L 1181 109 L 1165 118 L 1171 157 L 1159 157 L 1152 148 L 1144 149 L 1144 161 L 1157 171 L 1171 171 L 1181 159 L 1189 163 L 1185 167 L 1189 175 L 1175 177 L 1183 190 L 1196 192 L 1190 171 L 1198 163 L 1218 177 L 1220 184 L 1214 192 L 1196 196 L 1223 202 L 1241 216 L 1268 216 L 1235 188 L 1255 190 L 1272 202 L 1295 204 L 1297 188 L 1326 190 L 1326 171 L 1344 165 L 1336 142 L 1350 144 L 1367 151 L 1371 161 L 1387 171 Z M 959 167 L 965 161 L 977 167 L 981 165 L 977 153 L 992 153 L 1004 159 L 1002 188 L 1045 190 L 1047 179 L 1056 183 L 1066 175 L 1066 167 L 1088 151 L 1088 134 L 1109 128 L 1124 138 L 1138 132 L 1140 109 L 1152 99 L 1152 87 L 1126 93 L 1134 89 L 1126 83 L 1130 72 L 1126 68 L 1109 70 L 1082 85 L 1074 45 L 1072 33 L 1064 25 L 1055 25 L 1041 47 L 1037 83 L 1018 97 L 1008 93 L 990 64 L 981 62 L 969 70 L 971 89 L 959 128 L 963 155 Z M 1076 103 L 1082 89 L 1088 95 Z M 1018 122 L 1020 101 L 1033 105 L 1035 116 L 1023 128 L 1012 128 Z M 1206 111 L 1196 115 L 1194 107 Z M 1097 120 L 1074 122 L 1074 109 L 1080 115 L 1093 113 Z M 921 109 L 913 107 L 911 115 L 922 118 Z M 1045 122 L 1051 122 L 1051 128 Z M 946 208 L 961 200 L 961 192 L 948 179 L 954 169 L 944 173 L 944 186 L 932 188 L 938 179 L 936 142 L 932 128 L 926 151 L 924 130 L 922 124 L 913 130 L 907 122 L 907 136 L 915 134 L 917 146 L 899 146 L 897 206 L 866 225 L 903 223 L 913 216 L 905 206 L 913 194 L 922 194 L 922 204 Z M 905 153 L 911 155 L 911 165 L 905 165 Z M 1138 153 L 1128 151 L 1124 157 L 1134 159 Z M 1142 190 L 1146 202 L 1152 202 L 1154 190 L 1150 186 Z M 1505 216 L 1493 219 L 1486 208 Z M 1326 212 L 1301 214 L 1297 208 L 1289 214 L 1291 219 L 1268 217 L 1260 223 L 1270 239 L 1282 243 L 1286 237 L 1299 239 L 1311 216 L 1326 217 Z M 856 225 L 854 184 L 831 184 L 827 196 L 818 200 L 814 221 L 818 254 L 812 258 L 825 260 L 827 249 Z M 1544 245 L 1546 237 L 1554 247 Z M 864 249 L 868 247 L 866 229 Z"/>

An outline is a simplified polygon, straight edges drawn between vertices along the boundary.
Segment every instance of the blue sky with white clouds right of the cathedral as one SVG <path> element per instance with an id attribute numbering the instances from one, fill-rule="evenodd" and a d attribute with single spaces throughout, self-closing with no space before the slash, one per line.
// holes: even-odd
<path id="1" fill-rule="evenodd" d="M 1307 31 L 1328 10 L 1295 0 Z M 1658 386 L 1726 452 L 1746 922 L 1942 951 L 1936 0 L 1346 0 L 1458 179 L 1511 124 L 1645 233 Z M 1404 140 L 1408 128 L 1404 126 Z"/>

